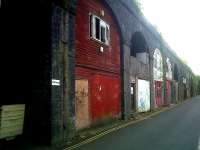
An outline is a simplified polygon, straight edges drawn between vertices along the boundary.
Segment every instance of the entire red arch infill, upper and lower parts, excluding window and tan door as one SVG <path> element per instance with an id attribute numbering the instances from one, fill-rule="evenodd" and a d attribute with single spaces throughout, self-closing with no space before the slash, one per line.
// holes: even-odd
<path id="1" fill-rule="evenodd" d="M 104 16 L 100 15 L 101 10 Z M 110 26 L 109 45 L 90 38 L 90 13 Z M 76 15 L 76 79 L 88 80 L 89 115 L 93 122 L 120 113 L 120 40 L 111 11 L 101 1 L 79 0 Z M 104 48 L 101 53 L 100 47 Z"/>

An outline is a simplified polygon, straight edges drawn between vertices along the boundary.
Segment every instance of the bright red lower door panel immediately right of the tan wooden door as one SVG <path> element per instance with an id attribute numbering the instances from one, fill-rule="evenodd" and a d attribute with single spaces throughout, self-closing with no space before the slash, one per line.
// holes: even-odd
<path id="1" fill-rule="evenodd" d="M 90 110 L 93 121 L 119 115 L 119 77 L 105 75 L 94 75 L 92 77 Z"/>

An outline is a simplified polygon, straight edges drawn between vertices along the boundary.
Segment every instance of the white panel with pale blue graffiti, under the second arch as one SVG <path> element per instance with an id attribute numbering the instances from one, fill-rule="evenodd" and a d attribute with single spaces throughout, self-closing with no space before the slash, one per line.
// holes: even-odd
<path id="1" fill-rule="evenodd" d="M 150 83 L 146 80 L 138 80 L 138 112 L 150 110 Z"/>

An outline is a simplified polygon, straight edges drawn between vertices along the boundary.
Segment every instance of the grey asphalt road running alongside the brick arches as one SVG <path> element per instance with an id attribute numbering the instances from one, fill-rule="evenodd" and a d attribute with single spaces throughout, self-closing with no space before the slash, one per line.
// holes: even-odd
<path id="1" fill-rule="evenodd" d="M 200 150 L 200 97 L 78 149 Z"/>

